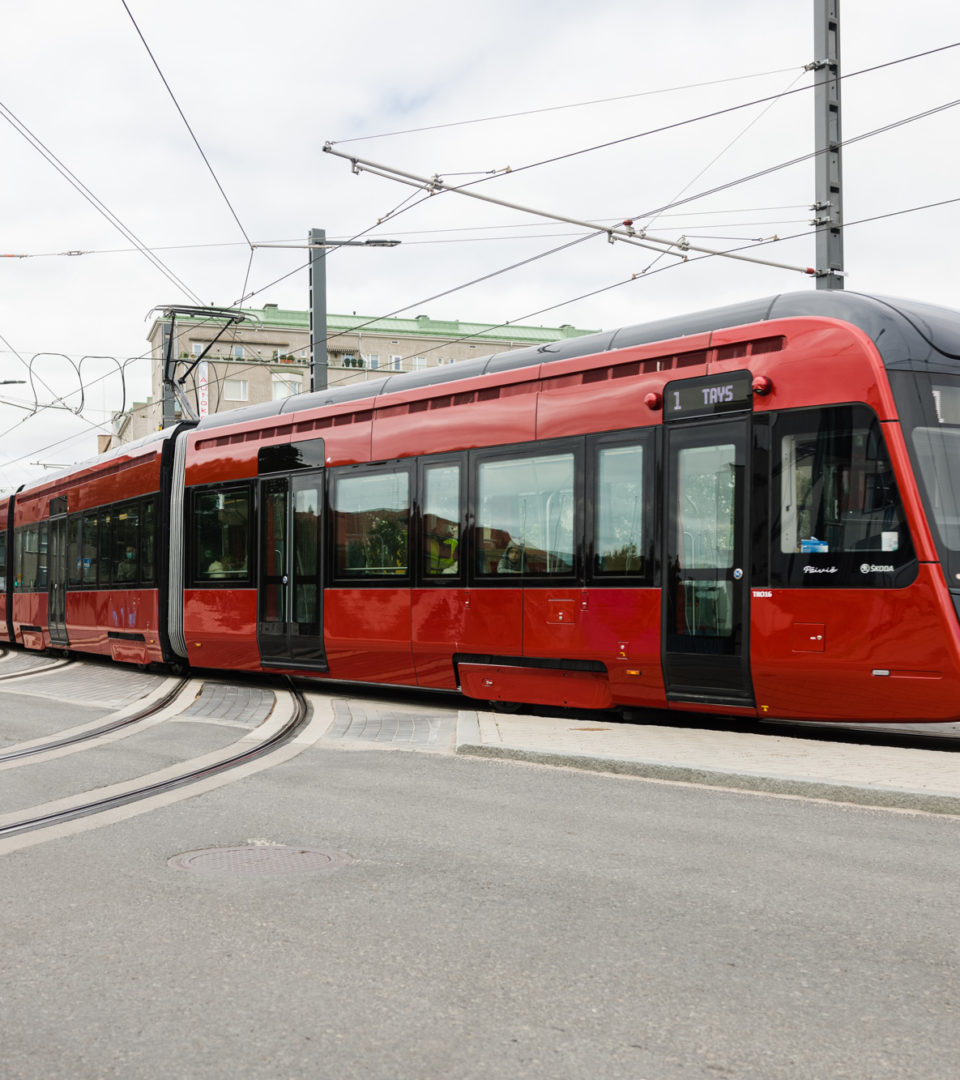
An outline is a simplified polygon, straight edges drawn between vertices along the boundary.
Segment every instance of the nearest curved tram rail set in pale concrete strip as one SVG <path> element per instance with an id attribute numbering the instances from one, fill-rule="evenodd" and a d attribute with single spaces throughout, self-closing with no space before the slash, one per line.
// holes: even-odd
<path id="1" fill-rule="evenodd" d="M 182 687 L 179 688 L 179 690 L 181 689 Z M 83 796 L 78 796 L 69 805 L 64 806 L 63 804 L 58 804 L 28 818 L 8 821 L 5 823 L 0 820 L 0 840 L 50 828 L 54 825 L 77 821 L 78 819 L 106 813 L 111 810 L 119 810 L 131 804 L 162 796 L 190 784 L 209 780 L 220 773 L 267 756 L 296 739 L 308 723 L 309 708 L 303 693 L 292 681 L 288 681 L 287 692 L 294 703 L 292 715 L 281 726 L 270 730 L 270 733 L 259 742 L 253 745 L 244 745 L 242 750 L 222 758 L 216 758 L 215 755 L 207 755 L 204 758 L 194 759 L 192 762 L 182 762 L 185 766 L 188 766 L 182 772 L 164 774 L 160 779 L 158 779 L 159 774 L 153 774 L 152 777 L 140 778 L 140 782 L 132 781 L 117 785 L 108 795 L 100 795 L 97 798 L 85 800 Z M 269 729 L 269 721 L 266 721 L 265 726 Z M 248 738 L 241 740 L 241 744 L 248 741 Z M 166 772 L 168 773 L 170 770 L 166 770 Z"/>

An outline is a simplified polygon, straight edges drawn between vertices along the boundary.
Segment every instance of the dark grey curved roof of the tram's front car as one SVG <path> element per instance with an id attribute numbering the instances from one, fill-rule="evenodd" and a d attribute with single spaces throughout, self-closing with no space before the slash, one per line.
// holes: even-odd
<path id="1" fill-rule="evenodd" d="M 759 300 L 747 300 L 722 308 L 674 315 L 650 323 L 640 323 L 599 334 L 545 345 L 530 346 L 510 352 L 495 352 L 422 372 L 387 375 L 369 382 L 310 391 L 266 402 L 248 408 L 231 409 L 204 417 L 198 428 L 207 430 L 242 423 L 282 413 L 300 411 L 325 405 L 376 399 L 396 391 L 459 381 L 478 375 L 517 370 L 553 360 L 589 356 L 626 349 L 631 346 L 672 341 L 694 334 L 730 326 L 746 326 L 774 319 L 813 316 L 836 319 L 862 329 L 880 352 L 891 370 L 954 372 L 960 360 L 960 311 L 941 308 L 917 300 L 900 300 L 846 291 L 813 291 L 781 293 Z"/>

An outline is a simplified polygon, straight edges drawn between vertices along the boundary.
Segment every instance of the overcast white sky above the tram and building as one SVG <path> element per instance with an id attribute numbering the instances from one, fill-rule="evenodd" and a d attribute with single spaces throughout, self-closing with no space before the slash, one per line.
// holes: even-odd
<path id="1" fill-rule="evenodd" d="M 424 199 L 354 175 L 323 147 L 450 184 L 509 166 L 476 190 L 590 221 L 630 217 L 706 247 L 799 233 L 756 255 L 811 266 L 813 162 L 733 181 L 814 149 L 803 66 L 817 3 L 127 0 L 221 194 L 121 0 L 6 0 L 0 253 L 28 257 L 0 259 L 0 379 L 29 379 L 32 365 L 40 403 L 62 395 L 71 408 L 71 365 L 87 386 L 80 416 L 31 415 L 28 384 L 0 387 L 0 487 L 37 475 L 32 462 L 95 451 L 122 402 L 117 362 L 146 352 L 156 306 L 245 297 L 306 309 L 306 253 L 251 243 L 299 243 L 311 227 L 402 241 L 329 256 L 332 312 L 610 329 L 813 289 L 789 269 L 680 265 L 603 238 L 571 245 L 583 229 L 454 193 Z M 960 5 L 841 0 L 840 14 L 844 139 L 960 98 L 960 49 L 854 76 L 960 42 Z M 960 202 L 854 224 L 960 198 L 958 130 L 960 108 L 942 109 L 844 150 L 848 289 L 960 308 Z M 143 400 L 147 361 L 124 370 L 127 402 Z"/>

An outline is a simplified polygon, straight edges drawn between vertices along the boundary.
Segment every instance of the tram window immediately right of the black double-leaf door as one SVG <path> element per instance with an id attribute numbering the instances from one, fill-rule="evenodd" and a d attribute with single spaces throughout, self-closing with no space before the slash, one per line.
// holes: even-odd
<path id="1" fill-rule="evenodd" d="M 409 487 L 406 470 L 336 477 L 334 543 L 339 577 L 407 572 Z"/>

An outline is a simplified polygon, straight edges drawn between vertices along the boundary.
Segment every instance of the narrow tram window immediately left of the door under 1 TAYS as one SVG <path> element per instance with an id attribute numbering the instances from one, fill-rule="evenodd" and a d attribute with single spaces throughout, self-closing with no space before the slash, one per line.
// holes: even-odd
<path id="1" fill-rule="evenodd" d="M 644 572 L 644 447 L 597 454 L 594 572 Z"/>

